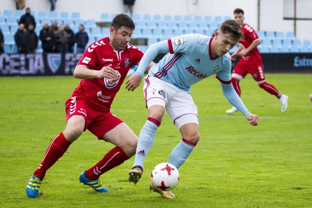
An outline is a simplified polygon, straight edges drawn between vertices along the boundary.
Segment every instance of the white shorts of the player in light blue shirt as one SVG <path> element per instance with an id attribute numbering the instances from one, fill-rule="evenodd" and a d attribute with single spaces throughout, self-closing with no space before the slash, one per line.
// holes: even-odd
<path id="1" fill-rule="evenodd" d="M 162 105 L 173 123 L 180 129 L 186 123 L 198 125 L 197 106 L 190 94 L 172 84 L 147 75 L 143 93 L 147 109 Z"/>

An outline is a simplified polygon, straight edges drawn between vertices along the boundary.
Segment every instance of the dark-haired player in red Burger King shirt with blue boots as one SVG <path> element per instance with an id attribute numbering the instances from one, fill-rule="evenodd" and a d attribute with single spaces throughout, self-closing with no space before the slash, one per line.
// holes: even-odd
<path id="1" fill-rule="evenodd" d="M 109 192 L 100 175 L 135 154 L 138 138 L 122 120 L 110 113 L 110 105 L 128 70 L 139 63 L 143 52 L 129 45 L 134 22 L 126 14 L 115 16 L 110 37 L 91 44 L 80 58 L 74 77 L 82 79 L 66 101 L 66 128 L 48 147 L 26 187 L 29 197 L 37 197 L 46 171 L 66 152 L 85 129 L 98 139 L 116 145 L 93 167 L 80 174 L 81 183 L 98 192 Z M 147 70 L 154 65 L 152 62 Z"/>

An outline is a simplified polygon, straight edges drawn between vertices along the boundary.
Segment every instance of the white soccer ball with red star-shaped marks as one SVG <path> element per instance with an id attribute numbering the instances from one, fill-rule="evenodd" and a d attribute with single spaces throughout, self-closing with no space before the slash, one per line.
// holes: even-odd
<path id="1" fill-rule="evenodd" d="M 178 168 L 164 162 L 156 165 L 151 174 L 154 187 L 162 191 L 169 191 L 179 182 Z"/>

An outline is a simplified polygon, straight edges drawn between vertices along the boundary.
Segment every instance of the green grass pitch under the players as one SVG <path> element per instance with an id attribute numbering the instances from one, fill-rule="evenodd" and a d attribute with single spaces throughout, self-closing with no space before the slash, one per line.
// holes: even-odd
<path id="1" fill-rule="evenodd" d="M 31 199 L 27 182 L 65 128 L 64 103 L 79 80 L 1 77 L 0 207 L 312 207 L 312 74 L 266 74 L 266 80 L 289 96 L 289 106 L 281 113 L 279 100 L 248 75 L 241 81 L 242 100 L 260 116 L 257 127 L 239 112 L 225 113 L 231 105 L 214 77 L 192 87 L 201 140 L 179 168 L 175 199 L 149 191 L 152 168 L 181 141 L 167 114 L 136 186 L 128 183 L 134 158 L 101 176 L 110 193 L 79 184 L 80 173 L 113 148 L 86 131 L 49 169 L 43 195 Z M 128 92 L 123 85 L 112 112 L 139 135 L 148 117 L 142 86 Z"/>

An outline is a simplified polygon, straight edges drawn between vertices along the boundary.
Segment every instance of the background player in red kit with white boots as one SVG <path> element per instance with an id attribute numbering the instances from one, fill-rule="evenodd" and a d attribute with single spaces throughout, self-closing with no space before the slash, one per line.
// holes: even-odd
<path id="1" fill-rule="evenodd" d="M 241 89 L 238 82 L 243 79 L 248 73 L 256 80 L 259 87 L 263 88 L 270 94 L 274 94 L 282 105 L 281 111 L 284 112 L 287 108 L 288 97 L 280 92 L 271 84 L 266 82 L 263 71 L 263 64 L 261 55 L 257 46 L 261 43 L 256 31 L 248 24 L 244 24 L 244 11 L 236 8 L 234 10 L 234 18 L 241 25 L 245 40 L 239 41 L 238 50 L 231 55 L 231 59 L 235 60 L 236 56 L 241 56 L 241 59 L 235 65 L 232 74 L 232 84 L 236 93 L 241 96 Z M 233 106 L 227 110 L 226 113 L 232 114 L 237 109 Z"/>

